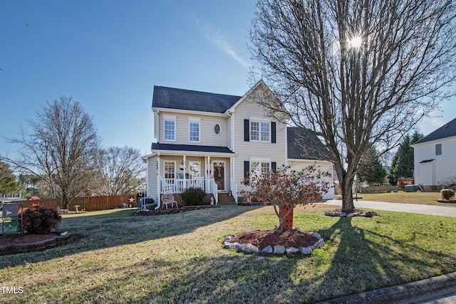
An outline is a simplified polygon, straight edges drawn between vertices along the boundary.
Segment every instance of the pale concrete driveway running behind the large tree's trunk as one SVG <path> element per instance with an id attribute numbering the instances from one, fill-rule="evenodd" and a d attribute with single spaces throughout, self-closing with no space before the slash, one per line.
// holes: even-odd
<path id="1" fill-rule="evenodd" d="M 323 204 L 342 206 L 342 200 L 331 199 L 325 201 Z M 355 208 L 456 217 L 456 207 L 435 205 L 387 203 L 383 201 L 355 201 Z"/>

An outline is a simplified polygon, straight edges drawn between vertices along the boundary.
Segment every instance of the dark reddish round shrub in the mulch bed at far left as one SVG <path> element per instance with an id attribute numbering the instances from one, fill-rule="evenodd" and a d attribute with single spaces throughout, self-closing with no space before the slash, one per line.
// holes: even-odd
<path id="1" fill-rule="evenodd" d="M 58 229 L 62 221 L 62 217 L 55 209 L 37 204 L 26 209 L 22 216 L 23 229 L 29 234 L 48 234 Z"/>

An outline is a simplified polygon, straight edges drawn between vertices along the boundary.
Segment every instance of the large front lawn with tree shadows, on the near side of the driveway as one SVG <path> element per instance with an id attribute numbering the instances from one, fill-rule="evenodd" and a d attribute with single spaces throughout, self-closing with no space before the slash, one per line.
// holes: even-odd
<path id="1" fill-rule="evenodd" d="M 6 303 L 314 303 L 456 271 L 456 219 L 381 211 L 372 219 L 298 207 L 294 226 L 323 236 L 311 256 L 222 248 L 271 229 L 271 207 L 222 206 L 160 216 L 130 210 L 64 216 L 73 243 L 0 259 Z"/>

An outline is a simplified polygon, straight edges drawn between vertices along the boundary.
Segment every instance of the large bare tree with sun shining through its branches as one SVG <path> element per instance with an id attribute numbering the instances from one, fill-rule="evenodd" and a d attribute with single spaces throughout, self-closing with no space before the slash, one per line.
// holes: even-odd
<path id="1" fill-rule="evenodd" d="M 257 2 L 252 56 L 281 105 L 262 104 L 321 137 L 344 211 L 354 209 L 353 180 L 368 143 L 380 154 L 392 149 L 450 97 L 455 12 L 451 0 Z"/>

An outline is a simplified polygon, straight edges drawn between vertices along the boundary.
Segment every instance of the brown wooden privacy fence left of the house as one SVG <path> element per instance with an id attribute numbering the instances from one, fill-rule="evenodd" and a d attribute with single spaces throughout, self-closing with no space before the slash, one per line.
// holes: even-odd
<path id="1" fill-rule="evenodd" d="M 18 201 L 24 204 L 24 208 L 30 208 L 32 204 L 46 206 L 53 209 L 63 209 L 63 204 L 60 199 L 35 199 L 30 201 Z M 85 196 L 76 197 L 68 203 L 68 211 L 96 211 L 115 208 L 137 207 L 136 194 L 124 194 L 113 196 Z"/>

